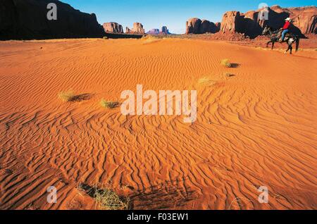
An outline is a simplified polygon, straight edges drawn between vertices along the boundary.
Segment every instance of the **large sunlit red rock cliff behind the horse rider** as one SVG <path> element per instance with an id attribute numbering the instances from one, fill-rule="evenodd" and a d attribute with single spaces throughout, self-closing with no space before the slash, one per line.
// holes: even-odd
<path id="1" fill-rule="evenodd" d="M 266 11 L 268 20 L 261 20 L 260 13 Z M 262 8 L 257 11 L 240 13 L 239 11 L 229 11 L 223 15 L 220 31 L 240 32 L 251 38 L 261 35 L 263 27 L 269 25 L 274 29 L 279 29 L 285 23 L 285 18 L 294 20 L 291 32 L 297 35 L 317 33 L 317 8 L 316 6 L 281 8 L 272 6 Z"/>

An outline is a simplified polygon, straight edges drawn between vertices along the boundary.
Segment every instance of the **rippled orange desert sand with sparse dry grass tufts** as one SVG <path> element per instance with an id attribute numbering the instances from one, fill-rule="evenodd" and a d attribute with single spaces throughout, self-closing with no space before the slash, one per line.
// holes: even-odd
<path id="1" fill-rule="evenodd" d="M 132 209 L 317 209 L 316 55 L 199 39 L 0 42 L 0 209 L 95 209 L 76 187 L 108 180 Z M 100 106 L 137 84 L 197 89 L 197 120 Z M 85 99 L 58 99 L 68 89 Z"/>

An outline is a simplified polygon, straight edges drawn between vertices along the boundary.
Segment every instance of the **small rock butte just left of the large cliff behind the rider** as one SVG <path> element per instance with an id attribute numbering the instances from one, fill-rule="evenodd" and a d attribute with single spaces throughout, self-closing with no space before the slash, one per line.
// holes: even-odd
<path id="1" fill-rule="evenodd" d="M 206 32 L 217 32 L 215 23 L 199 18 L 189 18 L 186 22 L 186 34 L 204 34 Z"/>

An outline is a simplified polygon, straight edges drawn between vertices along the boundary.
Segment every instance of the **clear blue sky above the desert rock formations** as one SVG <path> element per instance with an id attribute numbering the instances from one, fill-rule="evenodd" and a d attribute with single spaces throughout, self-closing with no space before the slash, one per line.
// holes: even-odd
<path id="1" fill-rule="evenodd" d="M 117 22 L 132 27 L 134 22 L 145 30 L 167 25 L 170 32 L 184 33 L 188 18 L 220 22 L 225 11 L 246 12 L 259 4 L 282 7 L 316 6 L 316 0 L 61 0 L 85 13 L 96 13 L 98 22 Z"/>

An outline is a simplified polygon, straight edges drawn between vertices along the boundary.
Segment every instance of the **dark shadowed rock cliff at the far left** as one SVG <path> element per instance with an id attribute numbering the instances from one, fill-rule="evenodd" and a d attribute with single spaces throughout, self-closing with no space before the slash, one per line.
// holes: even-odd
<path id="1" fill-rule="evenodd" d="M 48 20 L 47 5 L 57 6 L 57 20 Z M 0 39 L 102 37 L 94 13 L 82 13 L 57 0 L 1 0 Z"/>

